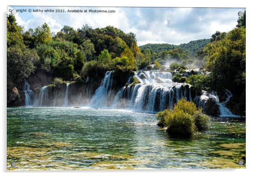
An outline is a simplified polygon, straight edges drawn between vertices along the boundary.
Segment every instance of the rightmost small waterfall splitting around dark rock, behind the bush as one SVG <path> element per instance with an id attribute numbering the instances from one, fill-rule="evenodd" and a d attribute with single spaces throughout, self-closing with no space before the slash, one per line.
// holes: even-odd
<path id="1" fill-rule="evenodd" d="M 219 106 L 219 116 L 220 117 L 240 117 L 239 115 L 233 115 L 233 113 L 226 107 L 226 103 L 229 101 L 230 97 L 233 96 L 229 90 L 226 90 L 226 100 L 224 102 L 219 102 L 219 96 L 214 93 L 208 93 L 207 91 L 202 91 L 201 96 L 196 96 L 194 99 L 195 104 L 198 107 L 203 108 L 203 112 L 205 112 L 205 107 L 207 106 L 208 99 L 213 99 L 214 102 Z"/>

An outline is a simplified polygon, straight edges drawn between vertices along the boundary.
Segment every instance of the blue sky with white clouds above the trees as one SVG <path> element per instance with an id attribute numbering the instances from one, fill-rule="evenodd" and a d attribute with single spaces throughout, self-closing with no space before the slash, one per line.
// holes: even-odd
<path id="1" fill-rule="evenodd" d="M 17 23 L 24 30 L 41 26 L 46 22 L 57 33 L 64 25 L 77 30 L 88 24 L 93 28 L 117 27 L 125 33 L 135 33 L 138 45 L 182 44 L 192 40 L 210 38 L 216 30 L 228 32 L 236 27 L 238 12 L 245 8 L 131 8 L 131 7 L 36 7 L 8 6 L 25 10 L 15 14 Z M 31 9 L 32 12 L 28 12 Z M 62 12 L 33 12 L 34 10 L 63 10 Z M 70 13 L 68 10 L 87 10 Z M 89 10 L 111 10 L 115 13 L 89 13 Z"/>

